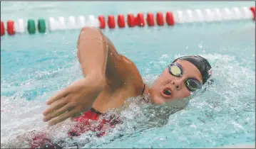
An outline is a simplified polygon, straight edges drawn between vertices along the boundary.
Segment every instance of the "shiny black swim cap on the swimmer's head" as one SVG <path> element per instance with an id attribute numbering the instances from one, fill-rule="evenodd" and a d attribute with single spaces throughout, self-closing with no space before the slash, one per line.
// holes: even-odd
<path id="1" fill-rule="evenodd" d="M 203 77 L 203 84 L 210 78 L 212 75 L 212 67 L 210 66 L 210 63 L 208 60 L 206 60 L 204 57 L 200 57 L 199 55 L 188 55 L 179 57 L 173 62 L 177 60 L 186 60 L 188 62 L 191 62 L 195 67 L 198 68 L 200 71 L 202 77 Z"/>

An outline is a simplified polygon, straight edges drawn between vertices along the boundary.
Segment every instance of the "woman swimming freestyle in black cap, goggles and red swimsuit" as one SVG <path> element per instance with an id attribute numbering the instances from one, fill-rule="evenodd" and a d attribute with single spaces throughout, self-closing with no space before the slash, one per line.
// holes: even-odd
<path id="1" fill-rule="evenodd" d="M 212 74 L 212 67 L 205 58 L 199 55 L 179 57 L 149 87 L 135 63 L 119 54 L 111 40 L 93 27 L 81 29 L 77 50 L 84 78 L 48 99 L 49 107 L 43 112 L 43 121 L 49 126 L 67 118 L 78 121 L 78 126 L 68 132 L 69 136 L 103 130 L 103 125 L 86 127 L 90 124 L 88 120 L 97 120 L 109 109 L 120 108 L 126 99 L 134 96 L 149 96 L 148 102 L 155 105 L 175 105 L 182 101 L 179 105 L 182 108 L 185 106 L 183 99 L 200 90 Z M 120 121 L 110 118 L 101 123 L 114 126 Z M 98 136 L 104 134 L 103 131 Z"/>

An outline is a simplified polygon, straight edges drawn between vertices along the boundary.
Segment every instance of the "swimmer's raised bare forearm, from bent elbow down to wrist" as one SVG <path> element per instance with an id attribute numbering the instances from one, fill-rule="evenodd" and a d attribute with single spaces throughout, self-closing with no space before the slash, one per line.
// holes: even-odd
<path id="1" fill-rule="evenodd" d="M 101 31 L 86 27 L 81 30 L 78 38 L 78 59 L 86 77 L 94 77 L 103 81 L 106 74 L 108 59 L 107 40 Z"/>

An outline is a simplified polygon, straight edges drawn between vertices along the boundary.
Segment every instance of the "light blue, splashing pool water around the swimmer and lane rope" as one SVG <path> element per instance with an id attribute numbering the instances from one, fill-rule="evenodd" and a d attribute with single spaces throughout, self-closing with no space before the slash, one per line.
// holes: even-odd
<path id="1" fill-rule="evenodd" d="M 1 2 L 1 20 L 253 5 L 253 1 Z M 45 130 L 46 99 L 82 77 L 76 57 L 78 33 L 1 37 L 1 143 L 26 147 L 17 136 Z M 103 33 L 119 53 L 135 62 L 148 84 L 175 57 L 190 54 L 208 58 L 215 83 L 175 114 L 162 106 L 131 104 L 121 113 L 123 124 L 108 136 L 76 138 L 81 143 L 90 140 L 83 143 L 85 148 L 214 148 L 255 143 L 255 22 L 106 29 Z M 65 138 L 68 123 L 49 131 L 53 138 Z"/>

